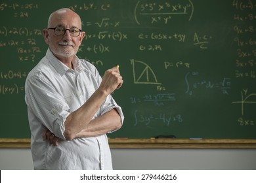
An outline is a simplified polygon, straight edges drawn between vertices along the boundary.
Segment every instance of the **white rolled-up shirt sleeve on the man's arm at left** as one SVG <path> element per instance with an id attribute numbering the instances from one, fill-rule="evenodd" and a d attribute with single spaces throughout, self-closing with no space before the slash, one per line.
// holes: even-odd
<path id="1" fill-rule="evenodd" d="M 70 108 L 64 102 L 62 95 L 56 92 L 54 88 L 43 75 L 35 75 L 26 81 L 25 101 L 28 110 L 31 110 L 33 116 L 30 125 L 44 125 L 56 137 L 64 137 L 64 122 L 70 114 Z M 34 120 L 34 121 L 33 121 Z M 40 124 L 37 124 L 40 122 Z"/>

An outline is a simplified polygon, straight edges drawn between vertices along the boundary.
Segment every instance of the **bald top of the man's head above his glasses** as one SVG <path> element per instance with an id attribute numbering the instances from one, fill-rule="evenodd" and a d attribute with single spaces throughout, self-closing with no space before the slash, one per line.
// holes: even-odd
<path id="1" fill-rule="evenodd" d="M 48 20 L 48 27 L 55 27 L 58 22 L 62 22 L 63 20 L 68 20 L 72 18 L 74 24 L 77 24 L 77 27 L 81 29 L 81 18 L 75 13 L 73 10 L 69 8 L 61 8 L 59 10 L 54 11 Z"/>

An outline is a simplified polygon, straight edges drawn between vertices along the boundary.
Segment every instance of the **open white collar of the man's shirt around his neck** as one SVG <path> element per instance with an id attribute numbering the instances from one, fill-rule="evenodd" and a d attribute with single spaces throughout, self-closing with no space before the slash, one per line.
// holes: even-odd
<path id="1" fill-rule="evenodd" d="M 54 69 L 56 69 L 57 73 L 59 73 L 61 76 L 63 76 L 67 71 L 70 70 L 70 68 L 64 63 L 62 63 L 58 58 L 56 58 L 53 55 L 53 52 L 51 52 L 50 48 L 48 48 L 47 53 L 46 53 L 47 59 L 50 61 L 50 64 L 53 65 Z M 81 64 L 81 60 L 75 56 L 74 61 L 72 61 L 74 70 L 77 73 L 80 73 L 83 71 L 85 68 Z"/>

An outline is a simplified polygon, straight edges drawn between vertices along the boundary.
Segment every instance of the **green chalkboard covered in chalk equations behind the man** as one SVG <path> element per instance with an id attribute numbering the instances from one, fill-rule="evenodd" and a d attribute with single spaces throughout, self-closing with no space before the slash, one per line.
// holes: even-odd
<path id="1" fill-rule="evenodd" d="M 255 0 L 2 0 L 0 138 L 30 138 L 24 82 L 62 7 L 83 20 L 77 56 L 120 66 L 125 122 L 109 137 L 256 139 Z"/>

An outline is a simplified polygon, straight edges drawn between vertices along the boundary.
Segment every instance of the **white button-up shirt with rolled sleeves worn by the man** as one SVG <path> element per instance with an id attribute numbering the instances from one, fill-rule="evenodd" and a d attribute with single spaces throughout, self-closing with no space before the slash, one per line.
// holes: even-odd
<path id="1" fill-rule="evenodd" d="M 74 70 L 68 68 L 51 50 L 29 73 L 25 101 L 32 132 L 31 149 L 35 169 L 112 169 L 106 135 L 59 141 L 53 146 L 43 141 L 43 129 L 65 139 L 66 117 L 81 107 L 100 85 L 102 78 L 88 61 L 76 58 Z M 123 112 L 108 95 L 94 118 L 116 108 L 123 123 Z"/>

